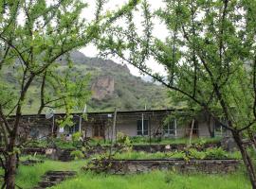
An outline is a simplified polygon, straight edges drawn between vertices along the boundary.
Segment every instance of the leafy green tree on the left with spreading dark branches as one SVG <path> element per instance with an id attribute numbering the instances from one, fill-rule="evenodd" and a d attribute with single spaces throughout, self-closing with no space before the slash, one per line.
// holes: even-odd
<path id="1" fill-rule="evenodd" d="M 84 105 L 89 93 L 87 77 L 70 72 L 69 52 L 98 39 L 101 31 L 134 9 L 137 1 L 105 15 L 101 15 L 104 1 L 96 3 L 95 20 L 89 22 L 81 18 L 82 9 L 88 6 L 81 0 L 0 0 L 0 132 L 5 142 L 0 157 L 5 168 L 2 188 L 15 187 L 16 154 L 27 140 L 20 137 L 21 119 L 33 85 L 41 86 L 38 113 L 46 107 L 62 107 L 66 112 L 62 124 L 70 124 L 70 112 Z M 58 70 L 60 59 L 68 65 L 63 72 Z M 6 85 L 7 72 L 11 73 L 11 86 Z"/>

